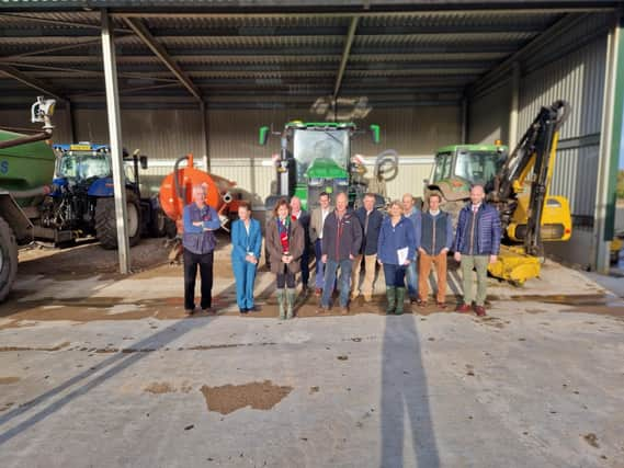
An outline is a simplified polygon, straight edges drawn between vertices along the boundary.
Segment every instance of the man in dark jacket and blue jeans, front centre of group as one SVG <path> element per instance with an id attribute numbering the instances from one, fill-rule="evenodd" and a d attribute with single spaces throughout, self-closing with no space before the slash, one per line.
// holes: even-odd
<path id="1" fill-rule="evenodd" d="M 336 209 L 330 213 L 322 227 L 321 262 L 325 263 L 325 288 L 320 299 L 319 313 L 329 310 L 336 273 L 340 267 L 340 308 L 349 313 L 349 282 L 353 260 L 360 252 L 362 227 L 358 217 L 347 212 L 347 194 L 336 196 Z"/>

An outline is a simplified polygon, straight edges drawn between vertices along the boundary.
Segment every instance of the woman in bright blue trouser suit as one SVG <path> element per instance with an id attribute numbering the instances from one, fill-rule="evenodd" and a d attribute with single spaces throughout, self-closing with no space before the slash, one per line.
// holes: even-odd
<path id="1" fill-rule="evenodd" d="M 251 208 L 241 203 L 238 220 L 231 225 L 231 266 L 236 281 L 236 303 L 240 313 L 256 311 L 253 307 L 253 282 L 260 260 L 262 232 L 260 222 L 251 218 Z"/>

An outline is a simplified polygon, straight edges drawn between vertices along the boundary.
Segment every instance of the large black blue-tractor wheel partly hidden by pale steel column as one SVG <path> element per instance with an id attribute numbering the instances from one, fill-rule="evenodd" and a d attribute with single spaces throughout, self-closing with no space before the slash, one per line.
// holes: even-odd
<path id="1" fill-rule="evenodd" d="M 134 192 L 126 191 L 126 209 L 128 238 L 131 247 L 140 240 L 140 205 Z M 95 236 L 100 244 L 106 249 L 117 248 L 117 225 L 115 216 L 115 199 L 99 198 L 95 205 Z"/>

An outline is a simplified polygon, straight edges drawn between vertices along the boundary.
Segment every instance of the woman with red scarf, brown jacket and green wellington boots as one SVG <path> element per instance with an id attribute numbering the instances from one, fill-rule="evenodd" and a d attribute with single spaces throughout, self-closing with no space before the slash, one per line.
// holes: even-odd
<path id="1" fill-rule="evenodd" d="M 280 319 L 292 319 L 295 305 L 295 274 L 300 271 L 299 260 L 304 252 L 304 230 L 299 221 L 292 219 L 291 208 L 285 198 L 277 202 L 273 208 L 273 217 L 266 224 L 266 251 L 271 272 L 276 275 Z"/>

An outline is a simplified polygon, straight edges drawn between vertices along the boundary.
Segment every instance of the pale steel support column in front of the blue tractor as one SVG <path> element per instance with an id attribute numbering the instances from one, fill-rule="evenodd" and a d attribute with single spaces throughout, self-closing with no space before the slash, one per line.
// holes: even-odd
<path id="1" fill-rule="evenodd" d="M 122 150 L 122 126 L 120 116 L 120 95 L 117 88 L 117 65 L 115 62 L 115 44 L 113 24 L 109 12 L 102 10 L 102 59 L 104 62 L 104 81 L 106 83 L 106 115 L 109 117 L 109 139 L 113 162 L 113 185 L 115 193 L 115 215 L 117 224 L 117 248 L 120 271 L 131 272 L 131 252 L 127 230 L 126 190 L 124 183 L 124 160 Z"/>

